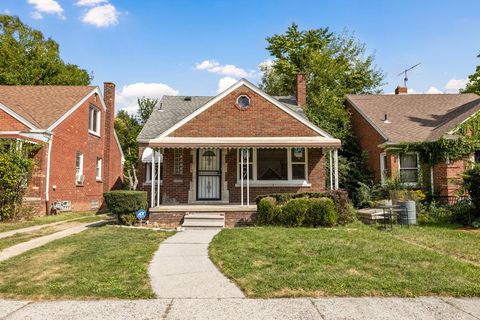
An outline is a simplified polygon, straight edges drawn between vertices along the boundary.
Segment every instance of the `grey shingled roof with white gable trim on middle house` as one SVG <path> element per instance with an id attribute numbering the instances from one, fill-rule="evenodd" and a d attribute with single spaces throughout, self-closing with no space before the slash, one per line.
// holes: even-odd
<path id="1" fill-rule="evenodd" d="M 161 136 L 167 136 L 169 133 L 188 122 L 190 119 L 208 109 L 211 105 L 221 100 L 230 92 L 245 85 L 248 88 L 259 93 L 267 100 L 277 105 L 285 112 L 292 115 L 300 122 L 304 123 L 319 135 L 331 138 L 331 136 L 311 123 L 304 114 L 303 109 L 297 105 L 295 97 L 279 96 L 272 97 L 257 88 L 255 85 L 245 79 L 241 79 L 227 90 L 217 96 L 163 96 L 159 106 L 152 112 L 147 123 L 138 136 L 139 141 L 155 139 Z M 186 98 L 189 99 L 186 99 Z"/>

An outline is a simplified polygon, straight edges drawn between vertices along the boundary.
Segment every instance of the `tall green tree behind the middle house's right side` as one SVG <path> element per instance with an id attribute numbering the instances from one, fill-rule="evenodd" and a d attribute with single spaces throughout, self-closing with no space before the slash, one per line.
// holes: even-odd
<path id="1" fill-rule="evenodd" d="M 371 174 L 351 129 L 345 95 L 378 93 L 384 75 L 366 47 L 352 35 L 328 28 L 301 31 L 293 23 L 284 34 L 267 38 L 274 61 L 264 66 L 261 87 L 271 95 L 295 94 L 296 74 L 306 75 L 306 114 L 310 121 L 343 142 L 341 186 L 355 200 L 358 182 L 371 184 Z"/>

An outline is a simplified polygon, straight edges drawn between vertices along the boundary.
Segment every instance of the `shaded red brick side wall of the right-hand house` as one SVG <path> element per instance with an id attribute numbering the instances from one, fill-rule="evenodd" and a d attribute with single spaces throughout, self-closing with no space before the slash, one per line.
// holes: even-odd
<path id="1" fill-rule="evenodd" d="M 375 182 L 380 182 L 380 154 L 383 150 L 379 148 L 378 145 L 384 143 L 385 139 L 348 102 L 346 105 L 347 110 L 350 111 L 352 128 L 358 137 L 360 147 L 368 153 L 368 167 L 374 174 Z M 388 169 L 388 165 L 387 170 L 390 170 Z"/>

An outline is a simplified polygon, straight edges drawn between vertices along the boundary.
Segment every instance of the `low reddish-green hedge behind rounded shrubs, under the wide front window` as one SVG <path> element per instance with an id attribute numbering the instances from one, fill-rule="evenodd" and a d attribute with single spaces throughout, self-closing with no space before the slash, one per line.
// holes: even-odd
<path id="1" fill-rule="evenodd" d="M 338 220 L 335 224 L 347 224 L 353 222 L 355 220 L 355 210 L 348 199 L 348 193 L 345 190 L 328 190 L 325 192 L 297 192 L 297 193 L 272 193 L 267 195 L 258 196 L 257 201 L 257 221 L 259 224 L 271 224 L 265 223 L 263 221 L 264 217 L 260 217 L 263 215 L 263 212 L 260 213 L 262 210 L 262 206 L 266 204 L 260 204 L 260 201 L 263 198 L 271 198 L 273 199 L 273 203 L 276 205 L 285 205 L 292 199 L 299 199 L 299 198 L 313 198 L 313 199 L 320 199 L 320 198 L 329 198 L 333 201 L 335 206 L 335 211 L 338 213 Z M 275 211 L 278 209 L 270 209 L 271 211 Z M 270 213 L 269 215 L 271 215 Z"/>

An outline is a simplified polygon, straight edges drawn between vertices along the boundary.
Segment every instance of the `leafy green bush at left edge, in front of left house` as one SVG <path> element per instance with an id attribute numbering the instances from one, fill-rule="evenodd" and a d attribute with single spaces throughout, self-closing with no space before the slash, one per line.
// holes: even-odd
<path id="1" fill-rule="evenodd" d="M 24 152 L 0 148 L 0 220 L 15 219 L 21 213 L 34 160 Z"/>

